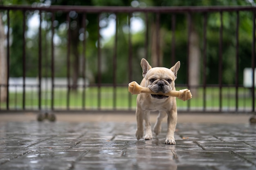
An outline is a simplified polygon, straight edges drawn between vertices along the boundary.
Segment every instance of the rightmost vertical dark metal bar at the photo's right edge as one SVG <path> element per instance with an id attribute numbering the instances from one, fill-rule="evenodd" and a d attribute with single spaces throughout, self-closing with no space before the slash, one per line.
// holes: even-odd
<path id="1" fill-rule="evenodd" d="M 255 112 L 255 11 L 253 11 L 253 26 L 252 26 L 252 112 Z"/>

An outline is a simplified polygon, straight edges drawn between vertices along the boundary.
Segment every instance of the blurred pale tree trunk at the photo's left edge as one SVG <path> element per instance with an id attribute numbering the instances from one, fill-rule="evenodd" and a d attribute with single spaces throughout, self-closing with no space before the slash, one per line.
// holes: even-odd
<path id="1" fill-rule="evenodd" d="M 6 36 L 4 35 L 4 26 L 0 14 L 0 102 L 6 101 L 7 98 L 7 56 L 4 46 L 5 40 Z"/>

